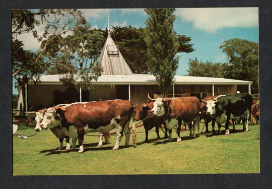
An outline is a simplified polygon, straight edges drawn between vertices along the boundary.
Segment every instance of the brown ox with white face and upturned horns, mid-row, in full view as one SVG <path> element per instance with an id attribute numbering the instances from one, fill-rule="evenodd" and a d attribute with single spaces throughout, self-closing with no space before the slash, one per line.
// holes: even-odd
<path id="1" fill-rule="evenodd" d="M 149 99 L 155 100 L 150 97 Z M 177 142 L 180 142 L 181 123 L 188 124 L 190 137 L 195 138 L 195 126 L 199 128 L 199 108 L 200 100 L 197 97 L 159 97 L 155 100 L 151 113 L 163 117 L 168 130 L 175 128 Z M 172 133 L 169 134 L 169 140 L 172 141 Z"/>

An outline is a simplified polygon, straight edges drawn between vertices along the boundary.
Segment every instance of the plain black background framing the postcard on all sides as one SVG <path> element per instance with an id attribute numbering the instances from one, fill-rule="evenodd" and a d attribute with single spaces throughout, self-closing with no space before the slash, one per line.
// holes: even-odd
<path id="1" fill-rule="evenodd" d="M 1 1 L 0 27 L 0 188 L 271 188 L 270 1 Z M 12 9 L 259 7 L 260 173 L 180 175 L 13 176 L 12 161 Z M 182 151 L 182 149 L 180 149 Z M 199 157 L 200 160 L 201 157 Z M 92 156 L 90 154 L 90 161 Z M 175 159 L 176 166 L 182 159 Z M 226 163 L 231 163 L 226 157 Z M 162 160 L 163 163 L 163 160 Z M 131 164 L 132 165 L 132 164 Z M 69 169 L 69 165 L 63 165 Z M 79 166 L 84 166 L 80 165 Z M 132 168 L 132 167 L 131 167 Z M 120 167 L 122 169 L 122 167 Z M 180 167 L 182 169 L 182 167 Z"/>

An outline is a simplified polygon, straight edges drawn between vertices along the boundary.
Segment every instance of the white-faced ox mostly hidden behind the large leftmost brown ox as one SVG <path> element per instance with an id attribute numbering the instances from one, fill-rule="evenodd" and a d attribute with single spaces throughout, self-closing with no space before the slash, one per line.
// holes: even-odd
<path id="1" fill-rule="evenodd" d="M 57 105 L 57 106 L 61 106 L 61 105 Z M 44 117 L 44 114 L 46 112 L 47 108 L 45 109 L 40 109 L 38 110 L 36 113 L 36 116 L 35 116 L 35 120 L 36 120 L 36 127 L 35 127 L 35 131 L 37 132 L 40 132 L 42 131 L 42 128 L 40 126 L 42 120 L 43 120 L 43 117 Z M 66 128 L 63 128 L 61 124 L 59 124 L 57 127 L 54 127 L 52 129 L 50 129 L 51 132 L 56 136 L 56 138 L 59 139 L 59 150 L 62 149 L 63 147 L 63 139 L 65 139 L 65 142 L 66 142 L 66 148 L 65 150 L 69 150 L 71 149 L 71 146 L 69 144 L 69 140 L 70 138 L 72 138 L 72 142 L 73 142 L 73 146 L 72 146 L 72 150 L 76 148 L 76 142 L 78 140 L 78 135 L 76 133 L 75 130 L 70 130 L 68 131 Z M 108 134 L 103 134 L 103 133 L 100 133 L 100 137 L 99 137 L 99 143 L 97 146 L 102 146 L 103 145 L 103 136 L 105 137 L 105 143 L 108 144 Z"/>

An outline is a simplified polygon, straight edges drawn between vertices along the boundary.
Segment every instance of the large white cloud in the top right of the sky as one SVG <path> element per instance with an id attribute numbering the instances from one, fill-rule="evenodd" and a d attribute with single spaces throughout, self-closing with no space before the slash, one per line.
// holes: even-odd
<path id="1" fill-rule="evenodd" d="M 258 27 L 258 8 L 181 8 L 175 14 L 209 33 L 225 27 Z"/>

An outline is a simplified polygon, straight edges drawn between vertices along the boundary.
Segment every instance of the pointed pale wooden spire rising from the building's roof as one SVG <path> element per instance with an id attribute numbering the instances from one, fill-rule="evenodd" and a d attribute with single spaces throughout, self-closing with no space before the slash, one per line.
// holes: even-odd
<path id="1" fill-rule="evenodd" d="M 103 66 L 104 71 L 102 74 L 104 75 L 133 74 L 110 35 L 107 37 L 98 62 Z"/>

